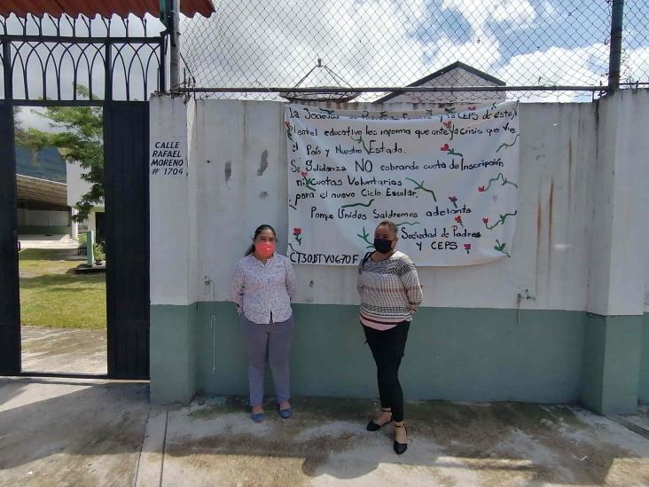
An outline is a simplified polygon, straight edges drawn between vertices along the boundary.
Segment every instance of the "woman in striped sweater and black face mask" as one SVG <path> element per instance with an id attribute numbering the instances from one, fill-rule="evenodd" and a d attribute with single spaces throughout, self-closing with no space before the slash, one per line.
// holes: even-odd
<path id="1" fill-rule="evenodd" d="M 397 226 L 381 222 L 374 231 L 376 252 L 365 255 L 358 267 L 361 296 L 361 325 L 377 366 L 381 413 L 367 429 L 377 431 L 395 421 L 395 452 L 408 449 L 408 432 L 403 425 L 403 391 L 399 365 L 405 350 L 412 313 L 423 295 L 417 269 L 408 255 L 396 250 Z"/>

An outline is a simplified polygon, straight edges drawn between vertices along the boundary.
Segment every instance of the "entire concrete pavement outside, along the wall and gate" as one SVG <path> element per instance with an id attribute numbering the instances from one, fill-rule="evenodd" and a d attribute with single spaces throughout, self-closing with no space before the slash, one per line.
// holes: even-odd
<path id="1" fill-rule="evenodd" d="M 649 441 L 581 409 L 409 404 L 411 448 L 367 400 L 152 407 L 148 386 L 0 379 L 0 485 L 649 485 Z M 642 415 L 640 415 L 642 416 Z"/>

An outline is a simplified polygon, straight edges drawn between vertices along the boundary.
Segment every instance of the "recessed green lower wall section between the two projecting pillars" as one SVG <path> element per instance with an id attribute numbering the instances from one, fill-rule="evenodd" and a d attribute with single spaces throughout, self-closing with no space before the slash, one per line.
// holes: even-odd
<path id="1" fill-rule="evenodd" d="M 293 310 L 293 393 L 376 397 L 376 368 L 357 306 L 297 304 Z M 200 303 L 198 316 L 197 387 L 207 394 L 246 394 L 246 350 L 233 305 Z M 579 312 L 528 310 L 519 321 L 518 310 L 424 308 L 403 358 L 404 393 L 409 399 L 573 403 L 582 346 Z"/>

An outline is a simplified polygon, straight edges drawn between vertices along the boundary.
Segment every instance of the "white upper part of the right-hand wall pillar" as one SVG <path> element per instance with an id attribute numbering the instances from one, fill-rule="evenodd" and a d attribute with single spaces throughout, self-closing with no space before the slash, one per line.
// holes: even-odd
<path id="1" fill-rule="evenodd" d="M 637 315 L 645 310 L 648 95 L 647 90 L 622 90 L 599 106 L 588 299 L 588 310 L 598 314 Z"/>

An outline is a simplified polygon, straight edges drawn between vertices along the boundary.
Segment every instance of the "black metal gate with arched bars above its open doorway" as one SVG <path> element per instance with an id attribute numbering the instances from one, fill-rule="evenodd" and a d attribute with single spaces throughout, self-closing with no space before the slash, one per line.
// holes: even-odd
<path id="1" fill-rule="evenodd" d="M 0 17 L 0 375 L 22 374 L 13 106 L 103 106 L 108 377 L 149 376 L 149 112 L 147 102 L 135 100 L 165 90 L 165 41 L 146 36 L 145 20 L 139 37 L 122 22 L 121 37 L 111 36 L 111 20 L 98 36 L 82 17 L 20 20 L 22 31 L 12 34 Z M 62 35 L 68 25 L 74 34 Z M 43 35 L 48 26 L 57 35 Z M 79 35 L 83 27 L 87 36 Z M 33 82 L 39 73 L 40 84 Z M 74 83 L 67 94 L 64 75 Z M 90 97 L 80 99 L 75 88 L 83 79 Z M 93 94 L 98 79 L 102 96 Z"/>

